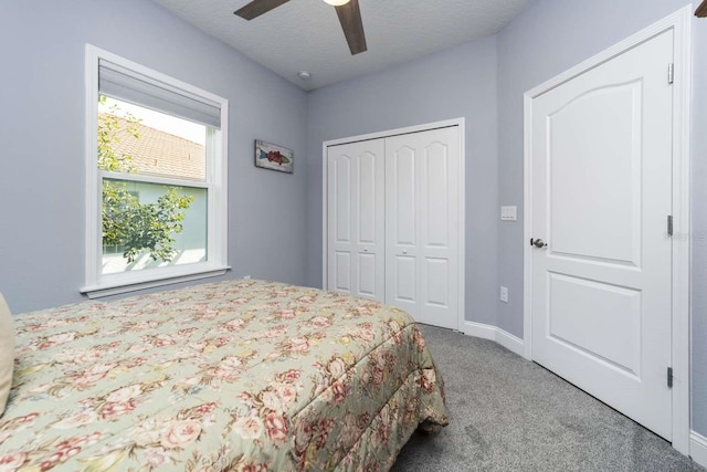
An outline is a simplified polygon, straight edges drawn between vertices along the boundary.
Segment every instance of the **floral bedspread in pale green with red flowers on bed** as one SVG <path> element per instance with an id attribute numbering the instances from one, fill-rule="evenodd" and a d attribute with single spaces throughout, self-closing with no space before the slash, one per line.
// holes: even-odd
<path id="1" fill-rule="evenodd" d="M 236 280 L 17 316 L 0 471 L 388 470 L 446 424 L 402 311 Z"/>

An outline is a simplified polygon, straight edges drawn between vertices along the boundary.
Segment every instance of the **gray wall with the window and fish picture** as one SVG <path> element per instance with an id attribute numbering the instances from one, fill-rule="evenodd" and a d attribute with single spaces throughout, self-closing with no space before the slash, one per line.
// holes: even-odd
<path id="1" fill-rule="evenodd" d="M 2 1 L 0 291 L 11 310 L 82 300 L 84 43 L 229 98 L 225 276 L 304 284 L 305 166 L 255 168 L 253 141 L 304 164 L 306 93 L 150 1 Z"/>

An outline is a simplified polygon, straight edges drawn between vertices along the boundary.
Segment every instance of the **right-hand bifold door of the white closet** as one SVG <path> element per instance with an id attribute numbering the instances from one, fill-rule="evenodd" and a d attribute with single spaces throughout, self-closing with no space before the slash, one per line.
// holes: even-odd
<path id="1" fill-rule="evenodd" d="M 458 327 L 458 127 L 386 139 L 386 301 Z"/>

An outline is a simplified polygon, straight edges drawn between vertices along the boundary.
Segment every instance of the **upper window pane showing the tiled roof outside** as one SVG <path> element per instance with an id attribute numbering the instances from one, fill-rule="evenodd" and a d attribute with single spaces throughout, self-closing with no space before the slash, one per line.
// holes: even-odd
<path id="1" fill-rule="evenodd" d="M 207 126 L 102 95 L 98 168 L 205 181 Z"/>

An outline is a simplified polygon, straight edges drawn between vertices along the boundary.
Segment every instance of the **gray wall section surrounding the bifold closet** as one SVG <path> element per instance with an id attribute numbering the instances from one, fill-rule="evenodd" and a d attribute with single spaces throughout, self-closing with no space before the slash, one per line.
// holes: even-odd
<path id="1" fill-rule="evenodd" d="M 466 118 L 466 318 L 496 323 L 496 40 L 483 39 L 309 94 L 307 283 L 321 286 L 321 143 Z"/>

